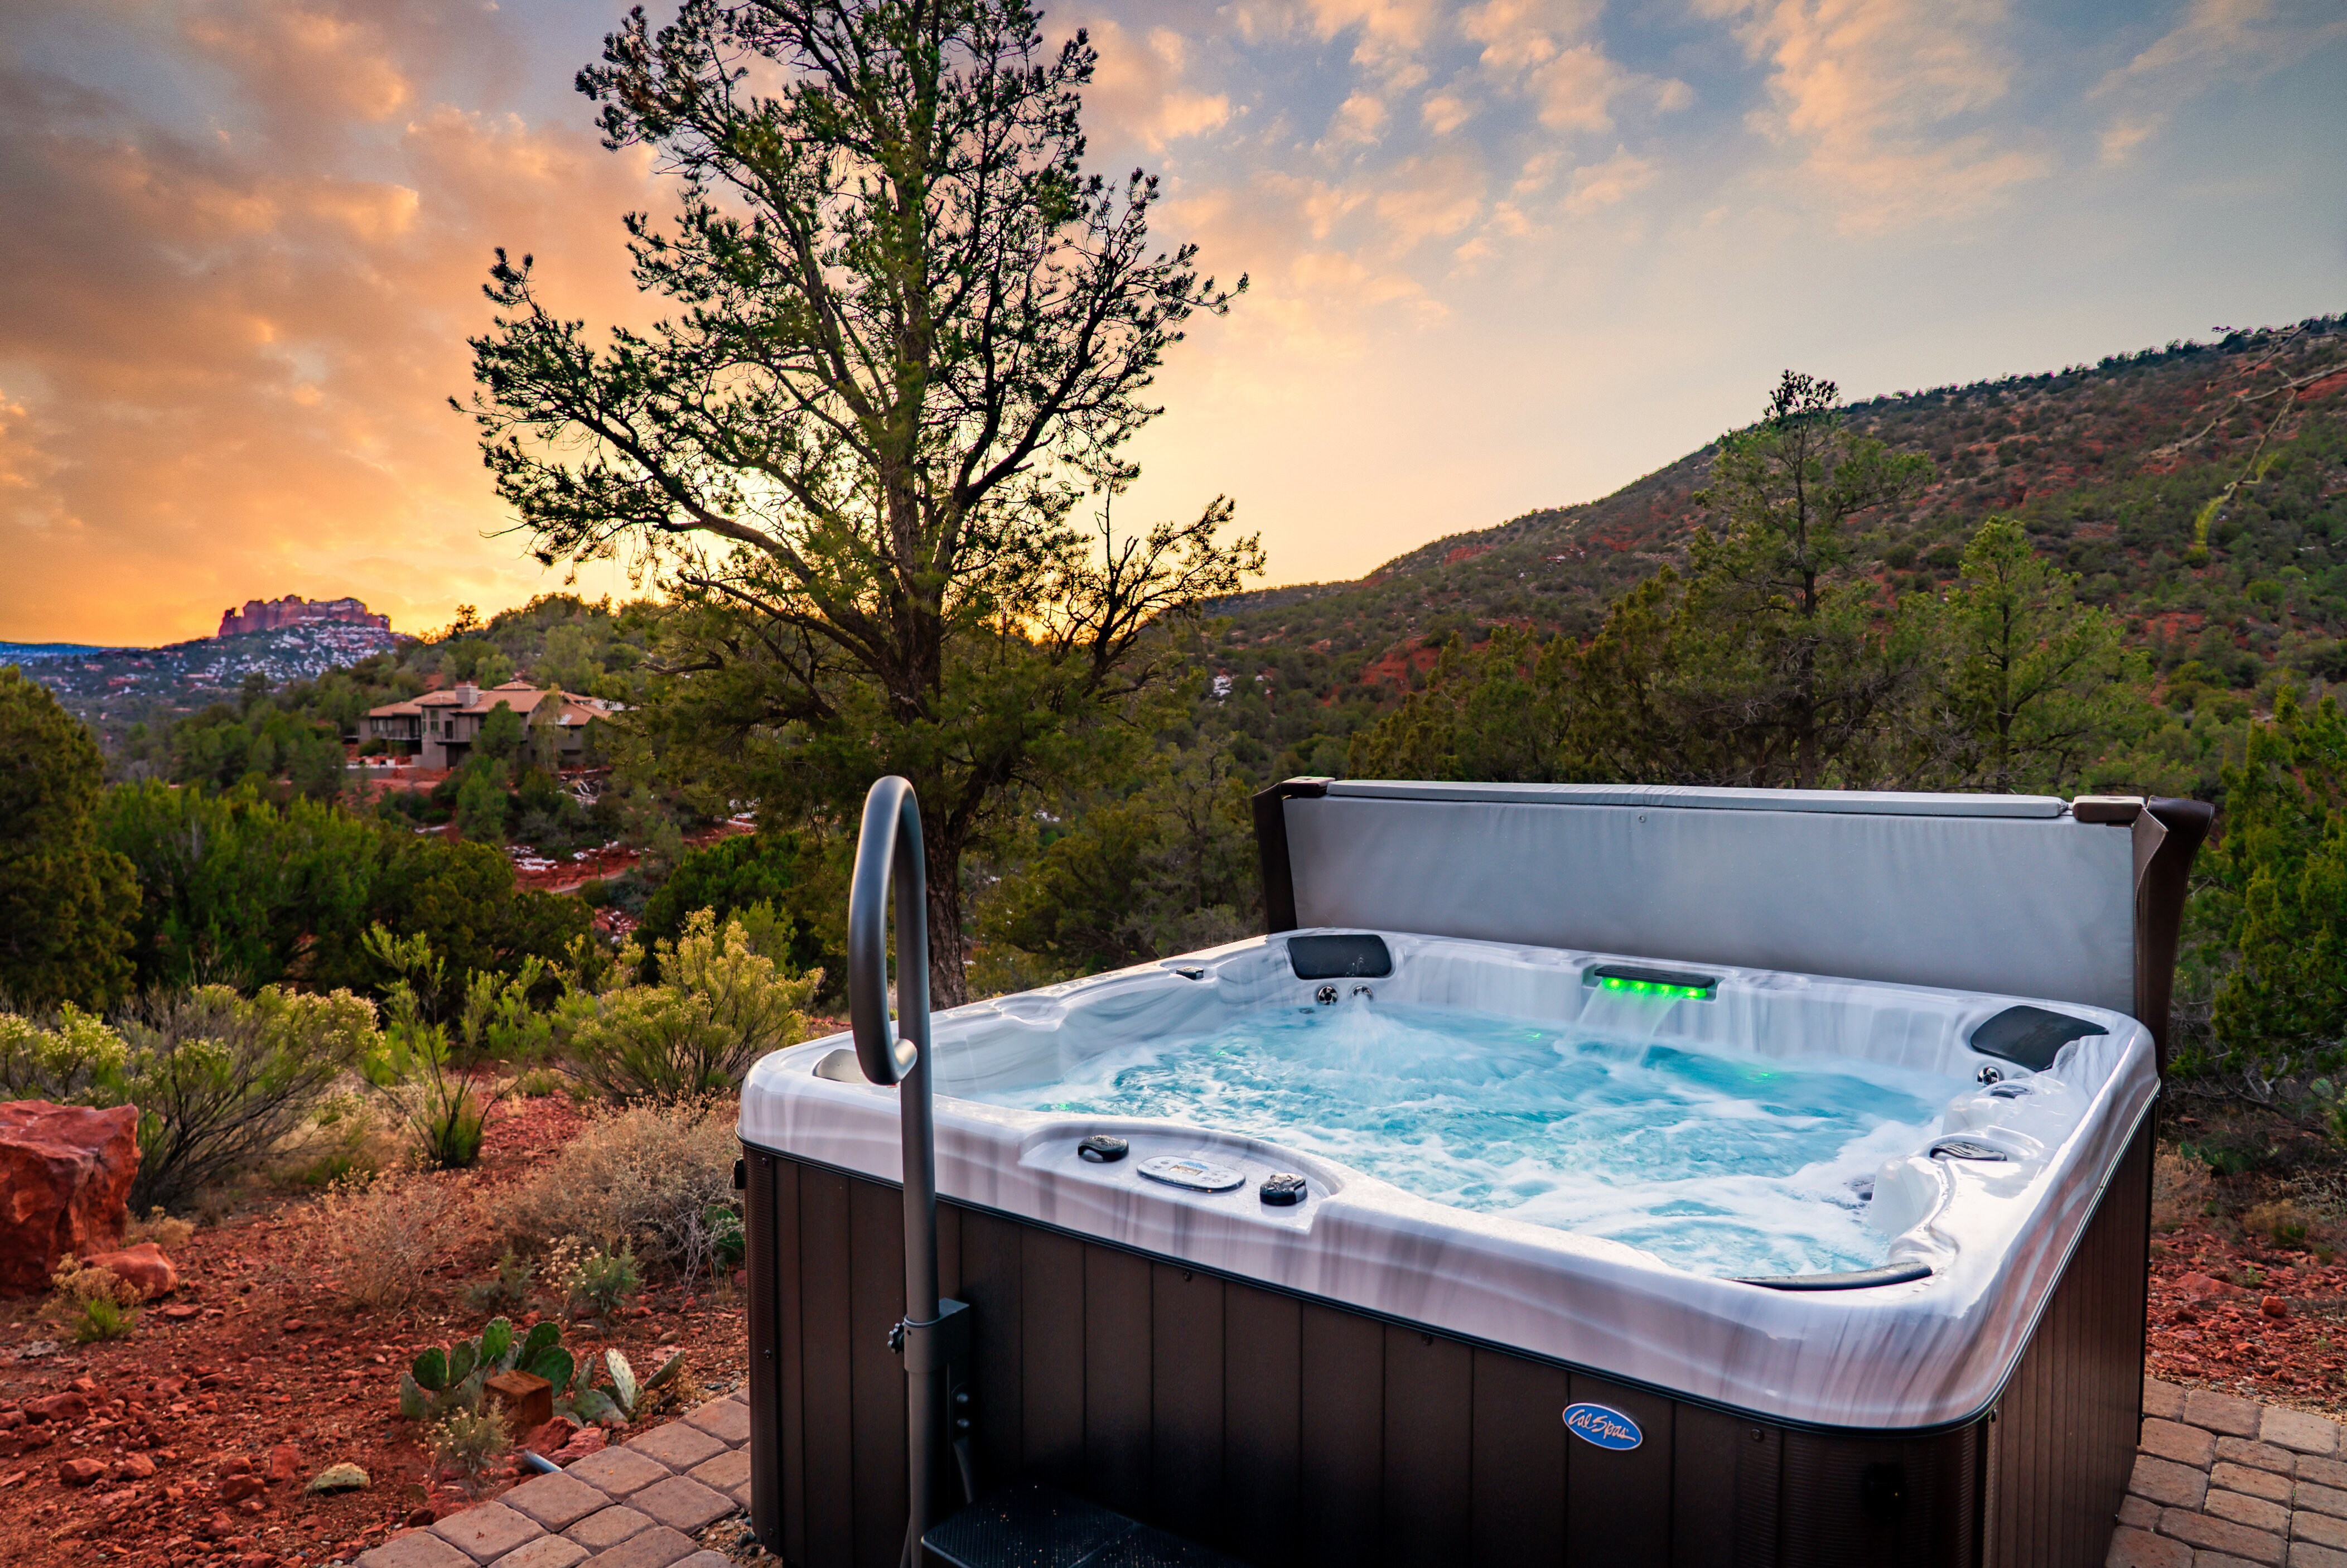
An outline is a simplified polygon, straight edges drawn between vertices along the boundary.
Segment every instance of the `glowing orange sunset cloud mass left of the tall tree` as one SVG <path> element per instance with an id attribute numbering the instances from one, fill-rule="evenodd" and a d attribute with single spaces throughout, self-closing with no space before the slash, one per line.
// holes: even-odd
<path id="1" fill-rule="evenodd" d="M 195 636 L 284 592 L 418 627 L 552 587 L 483 538 L 509 519 L 444 399 L 493 244 L 580 315 L 638 307 L 645 160 L 584 113 L 441 101 L 500 47 L 469 5 L 120 9 L 138 89 L 26 31 L 0 54 L 0 209 L 40 214 L 0 225 L 0 636 Z"/>

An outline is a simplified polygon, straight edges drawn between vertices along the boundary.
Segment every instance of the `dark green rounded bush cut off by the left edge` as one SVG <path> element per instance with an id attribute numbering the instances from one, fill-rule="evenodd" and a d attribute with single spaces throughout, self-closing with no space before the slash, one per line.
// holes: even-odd
<path id="1" fill-rule="evenodd" d="M 106 1007 L 131 981 L 129 861 L 92 831 L 103 761 L 47 688 L 0 667 L 0 998 Z"/>

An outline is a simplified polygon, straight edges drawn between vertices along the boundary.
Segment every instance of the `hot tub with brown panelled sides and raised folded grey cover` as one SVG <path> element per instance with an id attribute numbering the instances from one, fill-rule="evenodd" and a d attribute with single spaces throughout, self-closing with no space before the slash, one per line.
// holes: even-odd
<path id="1" fill-rule="evenodd" d="M 936 1016 L 981 1486 L 1258 1563 L 2101 1561 L 2204 807 L 1267 800 L 1286 930 Z M 890 1563 L 897 1091 L 779 1052 L 742 1143 L 756 1528 Z"/>

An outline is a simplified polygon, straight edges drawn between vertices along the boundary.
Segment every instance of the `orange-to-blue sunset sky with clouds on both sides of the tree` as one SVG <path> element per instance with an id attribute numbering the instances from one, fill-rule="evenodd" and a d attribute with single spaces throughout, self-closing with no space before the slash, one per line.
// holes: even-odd
<path id="1" fill-rule="evenodd" d="M 451 406 L 493 246 L 594 324 L 664 211 L 570 92 L 615 0 L 0 0 L 0 641 L 563 587 Z M 655 7 L 655 16 L 657 16 Z M 1084 0 L 1094 162 L 1249 291 L 1120 519 L 1265 582 L 1751 420 L 2347 310 L 2347 0 Z M 627 594 L 613 568 L 580 577 Z"/>

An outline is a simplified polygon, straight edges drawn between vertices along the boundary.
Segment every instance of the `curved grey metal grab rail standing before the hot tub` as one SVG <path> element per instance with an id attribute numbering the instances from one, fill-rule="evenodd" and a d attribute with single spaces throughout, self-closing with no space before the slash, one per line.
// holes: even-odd
<path id="1" fill-rule="evenodd" d="M 894 876 L 892 876 L 894 873 Z M 887 1007 L 887 911 L 897 890 L 897 1023 Z M 857 1063 L 875 1084 L 897 1087 L 904 1143 L 904 1322 L 890 1343 L 904 1352 L 906 1472 L 911 1519 L 904 1563 L 920 1561 L 920 1537 L 939 1516 L 939 1453 L 946 1441 L 946 1366 L 967 1338 L 962 1303 L 936 1298 L 936 1134 L 929 1120 L 929 892 L 920 850 L 920 800 L 890 775 L 864 796 L 857 876 L 847 892 L 847 1014 Z M 965 1479 L 967 1486 L 967 1479 Z"/>

